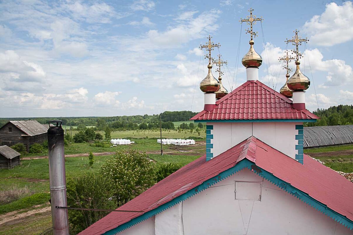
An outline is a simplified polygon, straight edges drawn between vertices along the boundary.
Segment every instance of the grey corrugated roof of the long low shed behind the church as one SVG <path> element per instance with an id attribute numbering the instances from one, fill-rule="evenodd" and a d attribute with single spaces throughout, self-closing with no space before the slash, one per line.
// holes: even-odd
<path id="1" fill-rule="evenodd" d="M 353 143 L 353 125 L 304 127 L 304 148 Z"/>

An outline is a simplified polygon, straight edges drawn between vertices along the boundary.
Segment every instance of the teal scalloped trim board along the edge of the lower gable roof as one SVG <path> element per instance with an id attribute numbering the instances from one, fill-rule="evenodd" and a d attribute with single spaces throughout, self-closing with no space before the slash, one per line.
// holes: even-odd
<path id="1" fill-rule="evenodd" d="M 298 160 L 303 161 L 303 160 Z M 174 205 L 178 204 L 179 202 L 185 201 L 186 199 L 198 194 L 199 192 L 202 192 L 205 189 L 208 189 L 209 187 L 213 186 L 214 184 L 221 182 L 223 179 L 228 178 L 234 173 L 239 172 L 240 170 L 243 170 L 244 168 L 247 168 L 249 170 L 252 170 L 254 173 L 257 175 L 261 176 L 264 179 L 269 180 L 271 183 L 277 185 L 279 188 L 282 190 L 288 192 L 289 194 L 293 195 L 294 197 L 299 198 L 301 201 L 305 202 L 306 204 L 310 205 L 314 209 L 318 210 L 319 212 L 323 213 L 324 215 L 327 215 L 328 217 L 332 218 L 333 220 L 339 222 L 343 226 L 347 227 L 348 229 L 353 229 L 353 221 L 349 220 L 346 216 L 343 216 L 334 210 L 330 209 L 327 207 L 327 205 L 317 201 L 316 199 L 312 198 L 309 194 L 294 188 L 291 184 L 277 178 L 274 176 L 272 173 L 263 170 L 262 168 L 256 166 L 254 163 L 249 161 L 248 159 L 243 159 L 240 162 L 237 163 L 237 165 L 231 167 L 228 170 L 225 170 L 221 173 L 219 173 L 217 176 L 209 178 L 202 184 L 196 186 L 193 189 L 190 189 L 189 191 L 185 192 L 182 195 L 179 195 L 178 197 L 175 197 L 171 201 L 164 203 L 160 205 L 159 207 L 152 209 L 150 211 L 145 212 L 144 214 L 133 218 L 132 220 L 121 224 L 120 226 L 111 229 L 109 231 L 106 231 L 104 235 L 114 235 L 117 234 L 123 230 L 126 230 L 142 221 L 147 220 L 148 218 L 155 216 L 171 207 Z"/>

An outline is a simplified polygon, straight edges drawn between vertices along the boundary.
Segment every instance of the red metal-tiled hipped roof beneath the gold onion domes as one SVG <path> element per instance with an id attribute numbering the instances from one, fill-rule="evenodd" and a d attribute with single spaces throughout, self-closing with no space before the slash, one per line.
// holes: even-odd
<path id="1" fill-rule="evenodd" d="M 297 110 L 286 96 L 259 81 L 247 81 L 216 102 L 211 111 L 190 120 L 318 119 L 308 110 Z"/>

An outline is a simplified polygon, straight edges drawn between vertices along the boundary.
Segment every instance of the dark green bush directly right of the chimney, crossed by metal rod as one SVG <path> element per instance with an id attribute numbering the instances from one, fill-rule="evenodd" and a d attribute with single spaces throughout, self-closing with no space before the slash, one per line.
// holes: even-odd
<path id="1" fill-rule="evenodd" d="M 112 181 L 99 173 L 85 173 L 67 179 L 67 204 L 70 207 L 116 209 Z M 106 216 L 105 211 L 68 210 L 70 229 L 77 234 Z"/>

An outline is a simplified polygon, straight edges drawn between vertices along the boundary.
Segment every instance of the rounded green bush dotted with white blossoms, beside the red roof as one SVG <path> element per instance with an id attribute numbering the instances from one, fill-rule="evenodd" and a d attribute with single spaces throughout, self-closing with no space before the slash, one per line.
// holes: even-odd
<path id="1" fill-rule="evenodd" d="M 118 151 L 101 166 L 101 174 L 114 183 L 114 196 L 119 206 L 154 184 L 154 169 L 148 155 L 138 150 Z"/>

